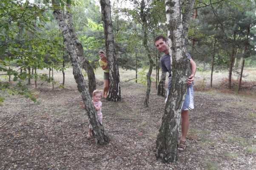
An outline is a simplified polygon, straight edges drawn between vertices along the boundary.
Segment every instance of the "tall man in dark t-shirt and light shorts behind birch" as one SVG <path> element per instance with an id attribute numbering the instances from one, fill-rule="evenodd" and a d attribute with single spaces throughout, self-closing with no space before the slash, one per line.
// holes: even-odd
<path id="1" fill-rule="evenodd" d="M 171 87 L 171 59 L 169 55 L 169 45 L 168 41 L 164 36 L 156 36 L 154 40 L 154 45 L 156 46 L 157 50 L 164 52 L 165 54 L 161 57 L 160 63 L 162 65 L 162 71 L 163 72 L 169 72 L 169 81 L 167 85 L 167 98 L 165 99 L 165 103 L 168 99 L 169 95 L 169 89 Z M 178 145 L 178 150 L 183 151 L 186 149 L 185 144 L 185 138 L 188 133 L 188 127 L 189 127 L 189 110 L 194 109 L 194 103 L 193 103 L 193 81 L 194 81 L 194 75 L 196 73 L 196 63 L 191 59 L 191 56 L 187 53 L 188 59 L 191 64 L 191 75 L 187 79 L 188 89 L 187 89 L 187 95 L 185 97 L 182 111 L 181 111 L 181 138 Z"/>

